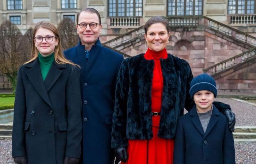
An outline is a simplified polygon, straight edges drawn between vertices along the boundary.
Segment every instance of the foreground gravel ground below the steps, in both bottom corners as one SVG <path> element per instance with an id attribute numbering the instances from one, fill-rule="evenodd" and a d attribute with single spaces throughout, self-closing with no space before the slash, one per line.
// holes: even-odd
<path id="1" fill-rule="evenodd" d="M 0 140 L 0 163 L 15 164 L 11 157 L 11 140 Z M 236 164 L 256 164 L 256 143 L 235 143 Z"/>

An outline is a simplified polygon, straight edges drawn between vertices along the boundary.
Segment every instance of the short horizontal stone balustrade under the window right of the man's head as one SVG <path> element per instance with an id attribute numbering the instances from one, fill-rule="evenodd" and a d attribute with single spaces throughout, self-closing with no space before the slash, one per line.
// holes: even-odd
<path id="1" fill-rule="evenodd" d="M 110 17 L 110 26 L 140 26 L 139 17 Z"/>

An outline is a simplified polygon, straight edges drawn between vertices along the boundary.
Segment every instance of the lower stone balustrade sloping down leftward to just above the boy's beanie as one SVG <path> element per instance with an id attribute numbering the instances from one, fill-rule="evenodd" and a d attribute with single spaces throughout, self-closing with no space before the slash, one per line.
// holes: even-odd
<path id="1" fill-rule="evenodd" d="M 236 66 L 240 63 L 245 62 L 248 59 L 256 57 L 256 47 L 251 50 L 245 51 L 242 54 L 238 54 L 233 56 L 232 58 L 226 59 L 220 63 L 217 63 L 211 67 L 203 69 L 204 73 L 209 73 L 211 75 L 215 75 L 221 71 L 229 69 L 230 67 Z"/>

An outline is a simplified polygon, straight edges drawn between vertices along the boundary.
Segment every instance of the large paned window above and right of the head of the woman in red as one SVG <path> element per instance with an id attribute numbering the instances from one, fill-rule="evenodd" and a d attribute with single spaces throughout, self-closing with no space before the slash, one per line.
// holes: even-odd
<path id="1" fill-rule="evenodd" d="M 203 0 L 168 0 L 167 15 L 202 15 Z"/>

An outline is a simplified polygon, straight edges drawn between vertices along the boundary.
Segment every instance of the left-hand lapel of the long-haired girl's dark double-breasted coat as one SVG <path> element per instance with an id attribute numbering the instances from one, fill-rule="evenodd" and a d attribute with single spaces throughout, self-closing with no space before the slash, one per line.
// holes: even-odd
<path id="1" fill-rule="evenodd" d="M 28 63 L 26 67 L 31 68 L 28 71 L 26 71 L 29 81 L 32 83 L 35 90 L 42 97 L 42 99 L 44 99 L 44 101 L 52 108 L 52 104 L 45 89 L 38 58 L 35 59 L 33 62 Z"/>

